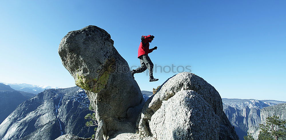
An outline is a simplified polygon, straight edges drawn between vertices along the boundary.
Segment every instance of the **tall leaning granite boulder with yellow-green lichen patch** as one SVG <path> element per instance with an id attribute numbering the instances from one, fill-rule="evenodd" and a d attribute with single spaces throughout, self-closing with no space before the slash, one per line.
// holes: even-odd
<path id="1" fill-rule="evenodd" d="M 58 49 L 63 66 L 96 109 L 96 139 L 108 139 L 118 131 L 134 133 L 144 105 L 128 63 L 113 43 L 106 31 L 89 25 L 67 33 Z"/>

